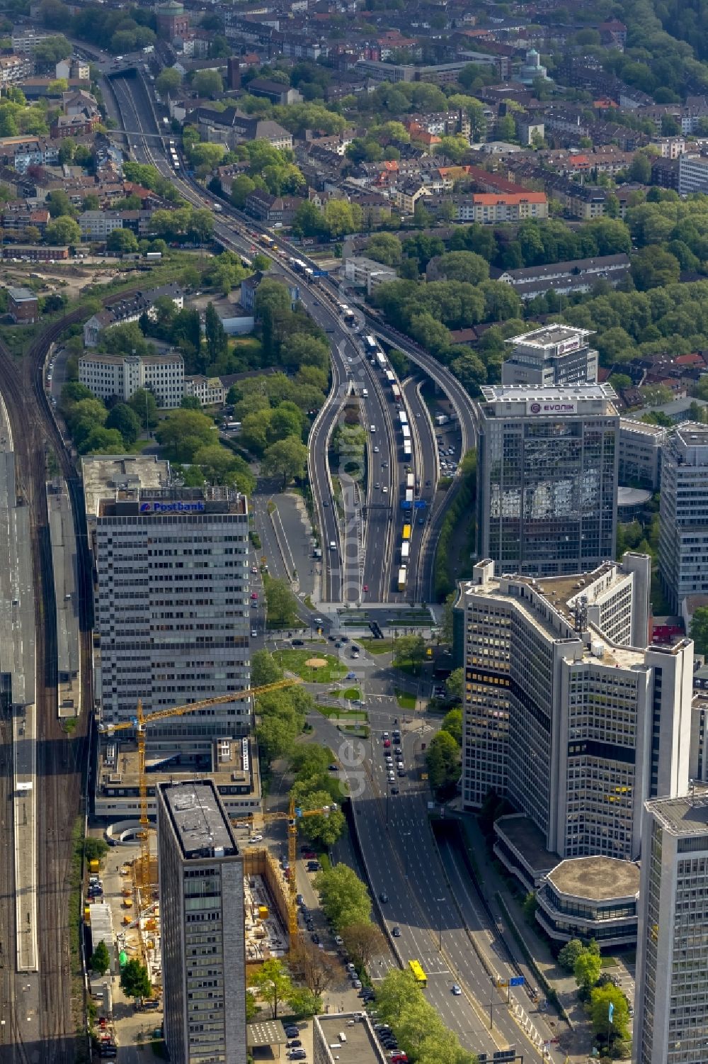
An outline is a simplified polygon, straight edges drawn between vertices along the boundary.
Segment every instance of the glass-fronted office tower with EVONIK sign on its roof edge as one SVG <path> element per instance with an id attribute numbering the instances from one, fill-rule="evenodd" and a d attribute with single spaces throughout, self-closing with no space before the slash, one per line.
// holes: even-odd
<path id="1" fill-rule="evenodd" d="M 561 576 L 614 554 L 614 389 L 483 387 L 477 430 L 477 556 L 498 572 Z"/>

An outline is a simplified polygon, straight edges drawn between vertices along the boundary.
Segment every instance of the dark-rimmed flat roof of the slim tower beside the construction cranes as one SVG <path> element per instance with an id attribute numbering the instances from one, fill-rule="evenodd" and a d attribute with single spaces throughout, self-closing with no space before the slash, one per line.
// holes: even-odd
<path id="1" fill-rule="evenodd" d="M 231 822 L 210 780 L 161 783 L 158 787 L 185 860 L 238 853 Z"/>

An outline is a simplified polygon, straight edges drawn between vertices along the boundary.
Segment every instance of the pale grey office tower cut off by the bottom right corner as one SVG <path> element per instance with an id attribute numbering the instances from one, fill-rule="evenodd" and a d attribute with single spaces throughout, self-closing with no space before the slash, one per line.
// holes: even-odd
<path id="1" fill-rule="evenodd" d="M 708 791 L 645 805 L 634 1060 L 708 1060 Z"/>

